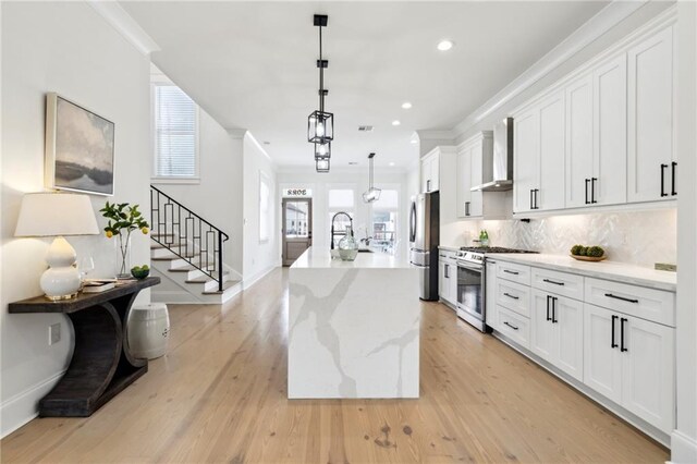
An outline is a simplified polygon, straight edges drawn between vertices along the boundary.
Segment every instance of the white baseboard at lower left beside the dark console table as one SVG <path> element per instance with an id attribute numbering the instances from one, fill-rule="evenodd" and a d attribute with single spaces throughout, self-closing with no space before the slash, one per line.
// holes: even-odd
<path id="1" fill-rule="evenodd" d="M 39 400 L 51 391 L 64 374 L 65 369 L 3 401 L 0 404 L 0 438 L 37 417 Z"/>

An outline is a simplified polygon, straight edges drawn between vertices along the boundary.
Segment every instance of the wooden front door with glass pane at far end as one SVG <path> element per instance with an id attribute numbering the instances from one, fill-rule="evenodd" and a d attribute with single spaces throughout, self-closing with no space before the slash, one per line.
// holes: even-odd
<path id="1" fill-rule="evenodd" d="M 283 199 L 283 266 L 291 266 L 313 244 L 313 200 Z"/>

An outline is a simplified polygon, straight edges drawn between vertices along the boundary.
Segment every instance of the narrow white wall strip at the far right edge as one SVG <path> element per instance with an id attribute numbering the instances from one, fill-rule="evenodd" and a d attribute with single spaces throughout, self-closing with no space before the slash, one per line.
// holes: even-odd
<path id="1" fill-rule="evenodd" d="M 677 7 L 677 430 L 671 461 L 697 462 L 697 4 Z"/>

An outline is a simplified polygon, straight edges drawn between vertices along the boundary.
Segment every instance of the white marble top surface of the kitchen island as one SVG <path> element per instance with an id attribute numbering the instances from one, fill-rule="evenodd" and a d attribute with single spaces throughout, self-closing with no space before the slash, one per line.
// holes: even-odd
<path id="1" fill-rule="evenodd" d="M 332 259 L 329 249 L 313 246 L 293 262 L 291 269 L 406 269 L 411 267 L 404 254 L 358 253 L 354 261 L 342 261 L 340 258 Z"/>

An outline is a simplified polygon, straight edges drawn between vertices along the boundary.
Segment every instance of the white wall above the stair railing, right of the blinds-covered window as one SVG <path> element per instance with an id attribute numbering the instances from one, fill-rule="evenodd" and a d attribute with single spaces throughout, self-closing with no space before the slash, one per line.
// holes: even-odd
<path id="1" fill-rule="evenodd" d="M 199 178 L 197 184 L 152 182 L 230 240 L 223 261 L 242 273 L 242 150 L 241 134 L 230 134 L 203 108 L 198 113 Z M 151 158 L 151 157 L 150 157 Z"/>

